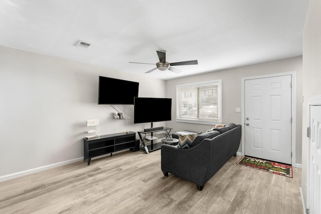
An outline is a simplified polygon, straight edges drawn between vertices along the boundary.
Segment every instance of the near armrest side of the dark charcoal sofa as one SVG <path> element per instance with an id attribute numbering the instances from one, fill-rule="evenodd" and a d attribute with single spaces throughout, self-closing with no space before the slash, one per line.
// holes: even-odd
<path id="1" fill-rule="evenodd" d="M 161 167 L 167 172 L 203 186 L 212 159 L 213 144 L 207 140 L 189 149 L 163 144 L 161 146 Z"/>

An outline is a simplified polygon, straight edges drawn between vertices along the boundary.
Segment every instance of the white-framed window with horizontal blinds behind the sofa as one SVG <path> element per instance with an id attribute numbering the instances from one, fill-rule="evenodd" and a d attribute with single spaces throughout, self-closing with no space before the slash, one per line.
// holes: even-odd
<path id="1" fill-rule="evenodd" d="M 177 92 L 177 122 L 216 124 L 222 121 L 222 80 L 180 85 Z"/>

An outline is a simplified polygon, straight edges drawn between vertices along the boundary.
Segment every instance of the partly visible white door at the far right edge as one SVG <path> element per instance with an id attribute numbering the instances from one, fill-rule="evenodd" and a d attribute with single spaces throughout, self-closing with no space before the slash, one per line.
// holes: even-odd
<path id="1" fill-rule="evenodd" d="M 321 213 L 321 106 L 310 106 L 309 209 Z"/>

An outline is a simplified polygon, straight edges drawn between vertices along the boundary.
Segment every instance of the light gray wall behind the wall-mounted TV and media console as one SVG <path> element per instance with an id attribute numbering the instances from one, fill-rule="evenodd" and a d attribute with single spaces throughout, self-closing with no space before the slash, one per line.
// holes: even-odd
<path id="1" fill-rule="evenodd" d="M 88 119 L 99 119 L 101 135 L 150 126 L 115 120 L 111 106 L 97 105 L 99 75 L 139 82 L 141 97 L 166 96 L 164 80 L 3 46 L 0 56 L 0 180 L 81 159 Z M 133 105 L 121 107 L 133 115 Z"/>

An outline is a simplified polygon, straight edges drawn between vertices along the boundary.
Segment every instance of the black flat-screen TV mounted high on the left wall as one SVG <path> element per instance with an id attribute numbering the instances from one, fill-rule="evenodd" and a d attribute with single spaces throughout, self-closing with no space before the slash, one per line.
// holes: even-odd
<path id="1" fill-rule="evenodd" d="M 139 83 L 99 76 L 98 104 L 133 105 Z"/>

